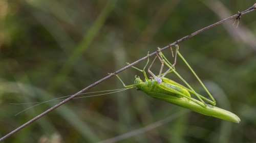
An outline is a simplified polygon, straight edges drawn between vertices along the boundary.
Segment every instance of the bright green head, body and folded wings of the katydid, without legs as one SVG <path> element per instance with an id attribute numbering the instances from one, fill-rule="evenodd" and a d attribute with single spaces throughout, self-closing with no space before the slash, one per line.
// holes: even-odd
<path id="1" fill-rule="evenodd" d="M 169 81 L 172 81 L 170 83 Z M 219 118 L 222 120 L 227 120 L 235 123 L 239 123 L 240 119 L 234 113 L 224 110 L 222 108 L 206 104 L 206 108 L 198 105 L 197 103 L 180 96 L 180 94 L 176 94 L 174 92 L 169 92 L 170 90 L 180 92 L 190 97 L 189 92 L 186 88 L 181 87 L 179 83 L 176 84 L 175 81 L 163 78 L 163 82 L 158 84 L 155 79 L 143 82 L 139 77 L 135 79 L 137 83 L 136 89 L 141 90 L 146 93 L 148 96 L 151 96 L 156 99 L 160 99 L 199 113 L 203 115 Z M 139 83 L 139 84 L 138 84 Z M 166 90 L 166 88 L 168 90 Z"/>

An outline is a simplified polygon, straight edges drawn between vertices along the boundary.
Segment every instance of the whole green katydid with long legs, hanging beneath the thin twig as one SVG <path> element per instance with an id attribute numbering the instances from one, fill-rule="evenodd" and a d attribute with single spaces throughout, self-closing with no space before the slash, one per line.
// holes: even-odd
<path id="1" fill-rule="evenodd" d="M 209 100 L 198 93 L 196 93 L 193 88 L 190 87 L 190 85 L 176 72 L 174 69 L 174 65 L 176 62 L 172 65 L 170 62 L 167 61 L 163 53 L 159 50 L 157 53 L 156 58 L 158 57 L 160 62 L 162 63 L 159 75 L 156 76 L 154 73 L 150 71 L 151 66 L 153 65 L 154 61 L 148 67 L 148 72 L 153 76 L 153 78 L 148 79 L 146 76 L 145 68 L 149 62 L 149 56 L 147 58 L 147 63 L 144 66 L 143 70 L 140 70 L 136 67 L 133 67 L 139 71 L 141 71 L 145 77 L 145 81 L 142 81 L 140 77 L 135 76 L 135 84 L 132 85 L 125 85 L 124 82 L 120 79 L 118 75 L 118 79 L 122 82 L 123 86 L 125 88 L 136 88 L 137 90 L 140 90 L 144 93 L 146 93 L 148 96 L 151 96 L 153 98 L 157 98 L 163 101 L 167 101 L 169 103 L 173 103 L 175 105 L 202 113 L 203 115 L 206 116 L 211 116 L 215 118 L 219 118 L 222 120 L 230 121 L 230 122 L 235 122 L 239 123 L 240 119 L 237 115 L 234 113 L 224 110 L 222 108 L 216 107 L 216 101 L 214 98 L 211 96 L 211 94 L 208 92 L 202 81 L 199 79 L 199 77 L 196 75 L 196 73 L 193 71 L 193 69 L 188 65 L 188 63 L 185 61 L 183 56 L 180 54 L 178 51 L 178 45 L 176 45 L 176 56 L 177 53 L 181 57 L 181 59 L 185 62 L 185 64 L 188 66 L 188 68 L 193 72 L 193 74 L 196 76 L 196 78 L 199 80 L 199 82 L 202 84 L 203 88 L 206 90 L 210 98 L 212 99 Z M 176 56 L 175 56 L 175 61 L 176 61 Z M 163 66 L 166 65 L 169 69 L 165 73 L 161 73 Z M 169 73 L 169 72 L 174 72 L 186 85 L 188 88 L 184 87 L 183 85 L 170 80 L 168 78 L 165 78 L 164 76 Z M 191 94 L 194 94 L 198 97 L 199 100 L 193 98 L 190 96 Z M 205 101 L 209 102 L 212 105 L 205 104 L 205 102 L 202 100 L 204 99 Z"/>

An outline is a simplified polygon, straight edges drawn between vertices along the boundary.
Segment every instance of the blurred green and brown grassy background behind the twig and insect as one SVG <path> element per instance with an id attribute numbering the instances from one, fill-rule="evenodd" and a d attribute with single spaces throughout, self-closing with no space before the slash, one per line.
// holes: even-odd
<path id="1" fill-rule="evenodd" d="M 252 6 L 255 1 L 0 1 L 0 135 L 4 136 L 58 102 L 30 104 L 74 94 L 144 57 L 148 51 Z M 158 128 L 131 132 L 118 142 L 256 142 L 256 13 L 179 44 L 179 51 L 217 100 L 241 118 L 207 117 L 135 89 L 76 99 L 4 142 L 97 142 L 171 118 Z M 172 62 L 170 50 L 164 54 Z M 151 60 L 153 57 L 151 58 Z M 180 58 L 177 71 L 206 96 Z M 145 62 L 136 65 L 143 68 Z M 160 63 L 153 71 L 158 72 Z M 126 84 L 134 76 L 119 76 Z M 168 78 L 179 81 L 174 74 Z M 123 88 L 112 77 L 93 91 Z M 104 142 L 104 141 L 103 141 Z"/>

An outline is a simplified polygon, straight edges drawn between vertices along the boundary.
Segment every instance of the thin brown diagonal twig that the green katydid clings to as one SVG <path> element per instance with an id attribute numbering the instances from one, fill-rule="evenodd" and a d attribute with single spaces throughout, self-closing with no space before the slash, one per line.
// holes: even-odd
<path id="1" fill-rule="evenodd" d="M 188 35 L 188 36 L 185 36 L 185 37 L 183 37 L 183 38 L 177 40 L 176 42 L 174 42 L 174 43 L 172 43 L 172 44 L 168 44 L 167 46 L 161 48 L 160 50 L 161 50 L 161 51 L 162 51 L 162 50 L 165 50 L 165 49 L 169 48 L 169 47 L 172 46 L 172 45 L 176 45 L 176 44 L 178 44 L 178 43 L 180 43 L 180 42 L 182 42 L 182 41 L 187 40 L 188 38 L 191 38 L 191 37 L 193 37 L 193 36 L 195 36 L 195 35 L 197 35 L 197 34 L 199 34 L 199 33 L 202 33 L 202 32 L 204 32 L 204 31 L 206 31 L 206 30 L 208 30 L 208 29 L 210 29 L 210 28 L 212 28 L 212 27 L 215 27 L 215 26 L 217 26 L 217 25 L 219 25 L 219 24 L 221 24 L 221 23 L 223 23 L 223 22 L 226 22 L 226 21 L 228 21 L 228 20 L 230 20 L 230 19 L 233 19 L 233 18 L 238 18 L 238 17 L 240 17 L 241 15 L 244 15 L 244 14 L 246 14 L 246 13 L 252 12 L 252 11 L 255 10 L 255 9 L 256 9 L 256 4 L 254 4 L 252 7 L 248 8 L 247 10 L 245 10 L 245 11 L 243 11 L 243 12 L 241 12 L 241 13 L 238 13 L 238 14 L 236 14 L 236 15 L 230 16 L 230 17 L 228 17 L 228 18 L 226 18 L 226 19 L 223 19 L 223 20 L 221 20 L 221 21 L 219 21 L 219 22 L 217 22 L 217 23 L 211 24 L 211 25 L 209 25 L 209 26 L 207 26 L 207 27 L 202 28 L 202 29 L 199 30 L 199 31 L 196 31 L 196 32 L 194 32 L 194 33 L 192 33 L 192 34 L 190 34 L 190 35 Z M 156 53 L 157 53 L 157 51 L 155 51 L 155 52 L 149 54 L 149 56 L 155 55 Z M 138 64 L 139 62 L 144 61 L 144 60 L 146 60 L 146 59 L 147 59 L 147 56 L 145 56 L 145 57 L 139 59 L 138 61 L 136 61 L 136 62 L 134 62 L 134 63 L 132 63 L 132 64 L 130 64 L 130 65 L 128 65 L 128 66 L 126 66 L 126 67 L 124 67 L 124 68 L 122 68 L 122 69 L 116 71 L 116 72 L 114 72 L 113 74 L 110 74 L 110 75 L 108 75 L 108 76 L 106 76 L 106 77 L 104 77 L 104 78 L 102 78 L 102 79 L 96 81 L 95 83 L 89 85 L 87 88 L 84 88 L 83 90 L 77 92 L 76 94 L 72 95 L 71 97 L 69 97 L 69 98 L 67 98 L 67 99 L 65 99 L 65 100 L 63 100 L 63 101 L 61 101 L 60 103 L 56 104 L 55 106 L 53 106 L 53 107 L 49 108 L 48 110 L 42 112 L 40 115 L 38 115 L 38 116 L 36 116 L 35 118 L 31 119 L 30 121 L 28 121 L 27 123 L 23 124 L 22 126 L 19 126 L 18 128 L 16 128 L 16 129 L 13 130 L 12 132 L 10 132 L 10 133 L 8 133 L 7 135 L 5 135 L 5 136 L 3 136 L 2 138 L 0 138 L 0 141 L 3 141 L 3 140 L 6 139 L 7 137 L 13 135 L 13 134 L 16 133 L 17 131 L 19 131 L 19 130 L 21 130 L 22 128 L 28 126 L 29 124 L 33 123 L 33 122 L 36 121 L 37 119 L 39 119 L 39 118 L 45 116 L 45 115 L 46 115 L 47 113 L 49 113 L 50 111 L 56 109 L 57 107 L 61 106 L 62 104 L 65 104 L 65 103 L 68 102 L 69 100 L 75 98 L 75 97 L 78 96 L 79 94 L 84 93 L 85 91 L 87 91 L 87 90 L 89 90 L 89 89 L 95 87 L 97 84 L 103 82 L 104 80 L 109 79 L 110 77 L 114 76 L 115 74 L 118 74 L 118 73 L 120 73 L 120 72 L 126 70 L 127 68 L 130 68 L 131 66 L 134 66 L 134 65 Z"/>

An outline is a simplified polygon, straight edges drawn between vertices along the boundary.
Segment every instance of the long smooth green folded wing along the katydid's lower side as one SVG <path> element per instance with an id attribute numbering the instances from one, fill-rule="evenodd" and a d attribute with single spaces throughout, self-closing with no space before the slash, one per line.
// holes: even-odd
<path id="1" fill-rule="evenodd" d="M 157 98 L 169 103 L 173 103 L 175 105 L 202 113 L 203 115 L 219 118 L 226 121 L 231 121 L 234 123 L 240 122 L 240 118 L 237 115 L 216 106 L 206 104 L 206 108 L 203 108 L 202 106 L 186 98 L 178 98 L 178 97 L 169 96 L 169 95 L 160 94 L 160 93 L 147 93 L 147 94 L 153 98 Z"/>

